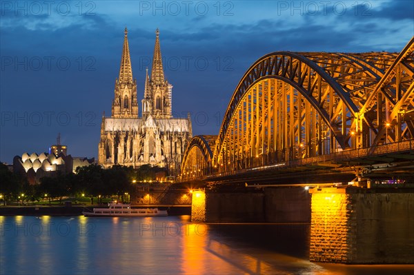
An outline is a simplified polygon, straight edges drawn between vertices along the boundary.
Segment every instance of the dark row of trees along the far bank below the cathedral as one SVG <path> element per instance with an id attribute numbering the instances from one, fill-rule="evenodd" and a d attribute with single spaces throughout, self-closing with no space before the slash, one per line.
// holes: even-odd
<path id="1" fill-rule="evenodd" d="M 94 197 L 101 203 L 102 198 L 116 196 L 124 201 L 124 194 L 134 194 L 137 181 L 155 179 L 159 167 L 142 165 L 138 169 L 114 165 L 103 169 L 100 165 L 77 167 L 75 173 L 60 173 L 45 176 L 39 184 L 30 185 L 26 176 L 10 172 L 0 163 L 0 196 L 3 204 L 7 201 L 40 201 L 61 199 L 66 196 L 86 196 L 94 203 Z M 135 182 L 134 182 L 135 181 Z"/>

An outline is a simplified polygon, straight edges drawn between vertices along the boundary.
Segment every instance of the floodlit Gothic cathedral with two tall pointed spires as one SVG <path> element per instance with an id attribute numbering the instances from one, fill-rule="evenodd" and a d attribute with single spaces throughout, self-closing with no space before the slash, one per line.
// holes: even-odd
<path id="1" fill-rule="evenodd" d="M 166 167 L 170 174 L 177 174 L 192 137 L 190 115 L 186 119 L 172 117 L 172 85 L 164 77 L 158 29 L 155 34 L 152 70 L 150 75 L 146 70 L 139 116 L 137 80 L 132 78 L 128 30 L 125 29 L 112 114 L 102 117 L 98 163 L 103 167 L 150 164 Z"/>

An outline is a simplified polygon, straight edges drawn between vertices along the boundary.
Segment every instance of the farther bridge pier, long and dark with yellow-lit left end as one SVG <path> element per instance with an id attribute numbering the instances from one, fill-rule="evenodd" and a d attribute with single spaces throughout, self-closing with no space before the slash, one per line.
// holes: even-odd
<path id="1" fill-rule="evenodd" d="M 194 191 L 191 221 L 208 223 L 309 223 L 311 195 L 303 187 L 252 192 Z"/>

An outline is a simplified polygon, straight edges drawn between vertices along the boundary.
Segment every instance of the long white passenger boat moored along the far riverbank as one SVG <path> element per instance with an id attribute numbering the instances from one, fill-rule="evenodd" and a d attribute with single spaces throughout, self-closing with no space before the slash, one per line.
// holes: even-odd
<path id="1" fill-rule="evenodd" d="M 82 212 L 83 216 L 168 216 L 167 210 L 158 208 L 131 208 L 129 204 L 108 203 L 108 208 L 94 208 L 92 212 Z"/>

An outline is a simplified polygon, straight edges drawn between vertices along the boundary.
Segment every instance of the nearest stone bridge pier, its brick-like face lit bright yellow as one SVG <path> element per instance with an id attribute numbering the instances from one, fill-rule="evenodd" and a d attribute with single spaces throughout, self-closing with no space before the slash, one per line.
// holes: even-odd
<path id="1" fill-rule="evenodd" d="M 414 190 L 315 188 L 311 261 L 414 263 Z"/>

